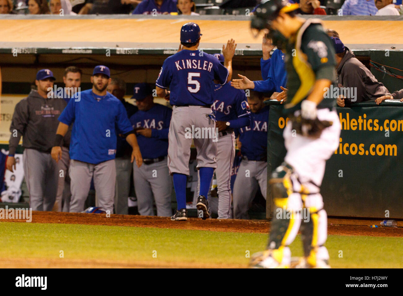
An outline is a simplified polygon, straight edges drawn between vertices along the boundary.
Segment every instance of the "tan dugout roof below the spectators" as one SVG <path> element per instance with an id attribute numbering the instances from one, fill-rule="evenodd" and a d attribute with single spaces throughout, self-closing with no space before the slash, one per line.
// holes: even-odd
<path id="1" fill-rule="evenodd" d="M 305 17 L 305 16 L 304 16 Z M 403 17 L 310 16 L 336 30 L 356 54 L 368 50 L 403 51 Z M 217 52 L 227 39 L 237 42 L 237 55 L 260 55 L 261 38 L 251 35 L 250 17 L 143 15 L 1 15 L 0 53 L 12 54 L 162 54 L 179 46 L 181 26 L 198 23 L 200 48 Z"/>

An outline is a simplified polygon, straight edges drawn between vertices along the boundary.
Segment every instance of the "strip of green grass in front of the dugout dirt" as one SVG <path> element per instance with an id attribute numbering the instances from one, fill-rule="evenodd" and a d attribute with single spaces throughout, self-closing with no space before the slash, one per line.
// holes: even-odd
<path id="1" fill-rule="evenodd" d="M 0 223 L 0 236 L 0 257 L 8 259 L 57 260 L 63 250 L 65 259 L 183 262 L 187 267 L 198 262 L 246 267 L 246 251 L 263 250 L 267 241 L 266 234 L 253 233 L 14 222 Z M 403 238 L 332 235 L 325 245 L 334 268 L 403 267 Z M 291 251 L 302 255 L 299 236 Z"/>

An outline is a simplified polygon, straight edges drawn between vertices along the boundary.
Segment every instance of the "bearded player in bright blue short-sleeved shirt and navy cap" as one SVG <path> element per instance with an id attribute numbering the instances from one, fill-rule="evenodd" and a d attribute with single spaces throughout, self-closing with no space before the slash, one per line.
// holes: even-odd
<path id="1" fill-rule="evenodd" d="M 62 138 L 73 122 L 70 141 L 71 202 L 70 212 L 81 212 L 94 179 L 99 206 L 113 213 L 116 182 L 116 137 L 124 135 L 133 148 L 131 161 L 141 166 L 142 157 L 133 128 L 123 104 L 106 91 L 110 70 L 96 66 L 91 76 L 92 89 L 80 92 L 80 99 L 71 99 L 59 116 L 59 126 L 52 148 L 52 158 L 62 156 Z"/>

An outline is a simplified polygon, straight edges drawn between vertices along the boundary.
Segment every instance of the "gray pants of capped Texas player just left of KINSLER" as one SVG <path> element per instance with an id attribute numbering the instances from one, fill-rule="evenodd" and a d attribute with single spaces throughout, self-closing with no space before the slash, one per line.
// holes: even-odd
<path id="1" fill-rule="evenodd" d="M 134 189 L 140 215 L 154 216 L 153 196 L 157 216 L 172 216 L 172 177 L 166 166 L 166 159 L 137 168 L 133 164 Z"/>

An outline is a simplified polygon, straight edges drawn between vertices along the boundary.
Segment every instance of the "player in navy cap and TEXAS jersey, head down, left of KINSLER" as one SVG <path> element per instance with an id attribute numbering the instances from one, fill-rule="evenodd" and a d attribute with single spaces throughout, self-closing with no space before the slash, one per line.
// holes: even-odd
<path id="1" fill-rule="evenodd" d="M 172 215 L 172 177 L 167 166 L 168 130 L 172 110 L 154 103 L 152 89 L 147 83 L 134 86 L 133 97 L 137 111 L 130 122 L 137 134 L 143 165 L 133 166 L 134 189 L 140 215 L 154 215 L 153 200 L 157 216 Z M 153 199 L 154 197 L 154 199 Z"/>

